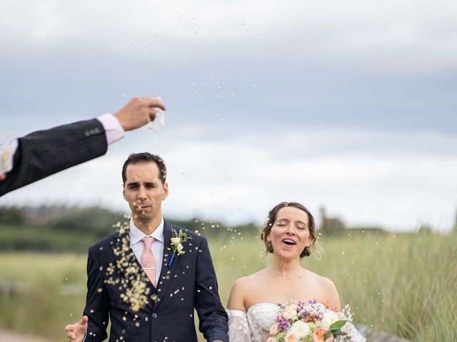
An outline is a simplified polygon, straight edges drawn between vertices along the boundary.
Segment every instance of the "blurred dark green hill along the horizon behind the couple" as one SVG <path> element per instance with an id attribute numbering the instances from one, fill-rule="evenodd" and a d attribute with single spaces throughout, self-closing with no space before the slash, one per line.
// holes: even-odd
<path id="1" fill-rule="evenodd" d="M 126 219 L 126 214 L 102 207 L 0 207 L 0 251 L 86 252 L 92 244 L 114 232 L 114 224 Z M 206 237 L 223 239 L 256 237 L 261 226 L 248 222 L 231 227 L 199 218 L 168 220 Z M 321 235 L 387 234 L 376 227 L 340 226 L 322 229 Z"/>

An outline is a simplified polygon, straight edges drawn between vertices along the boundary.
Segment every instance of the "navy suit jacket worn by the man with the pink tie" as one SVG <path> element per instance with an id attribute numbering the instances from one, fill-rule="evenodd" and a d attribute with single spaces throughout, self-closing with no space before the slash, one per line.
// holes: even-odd
<path id="1" fill-rule="evenodd" d="M 109 341 L 196 342 L 194 309 L 207 341 L 229 342 L 228 318 L 219 299 L 208 242 L 194 232 L 186 232 L 192 239 L 184 243 L 185 253 L 176 255 L 169 266 L 171 224 L 164 222 L 164 262 L 157 288 L 130 248 L 129 229 L 111 234 L 89 249 L 84 309 L 89 326 L 85 342 L 104 341 L 109 318 Z M 129 267 L 136 269 L 133 276 Z M 126 279 L 132 284 L 138 277 L 150 291 L 149 300 L 143 308 L 133 310 L 122 299 L 129 296 L 122 284 L 126 284 Z"/>

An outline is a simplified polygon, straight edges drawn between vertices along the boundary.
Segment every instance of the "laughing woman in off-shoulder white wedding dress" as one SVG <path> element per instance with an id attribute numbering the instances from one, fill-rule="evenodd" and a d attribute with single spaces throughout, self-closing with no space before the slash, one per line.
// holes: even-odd
<path id="1" fill-rule="evenodd" d="M 291 299 L 305 303 L 316 299 L 341 309 L 333 281 L 300 265 L 316 244 L 314 219 L 306 207 L 296 202 L 273 207 L 261 239 L 273 261 L 266 269 L 233 283 L 228 303 L 230 342 L 265 342 L 280 310 L 277 304 Z"/>

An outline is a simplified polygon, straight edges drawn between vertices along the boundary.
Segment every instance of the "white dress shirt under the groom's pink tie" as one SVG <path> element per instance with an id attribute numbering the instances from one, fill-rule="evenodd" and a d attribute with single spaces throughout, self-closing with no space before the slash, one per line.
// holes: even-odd
<path id="1" fill-rule="evenodd" d="M 141 242 L 145 237 L 154 237 L 151 244 L 151 251 L 156 259 L 156 284 L 159 284 L 162 261 L 164 261 L 164 217 L 162 217 L 159 226 L 152 234 L 146 235 L 136 228 L 133 220 L 130 220 L 130 247 L 134 251 L 135 257 L 141 265 L 141 255 L 144 251 L 144 243 Z M 143 267 L 143 265 L 141 265 Z"/>

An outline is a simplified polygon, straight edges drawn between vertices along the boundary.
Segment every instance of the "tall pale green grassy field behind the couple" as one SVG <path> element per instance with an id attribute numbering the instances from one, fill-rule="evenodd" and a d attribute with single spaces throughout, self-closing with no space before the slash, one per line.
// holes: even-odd
<path id="1" fill-rule="evenodd" d="M 321 259 L 303 266 L 334 281 L 354 321 L 413 341 L 457 340 L 457 234 L 353 233 L 321 245 Z M 235 279 L 268 264 L 254 237 L 210 247 L 224 304 Z M 0 269 L 0 327 L 63 341 L 84 307 L 86 255 L 3 253 Z"/>

